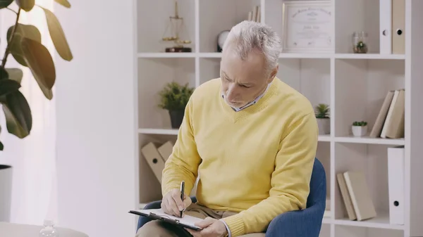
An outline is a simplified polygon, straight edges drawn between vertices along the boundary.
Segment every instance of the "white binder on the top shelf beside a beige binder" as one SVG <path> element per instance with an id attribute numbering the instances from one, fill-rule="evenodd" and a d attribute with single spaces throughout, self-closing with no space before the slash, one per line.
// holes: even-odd
<path id="1" fill-rule="evenodd" d="M 392 53 L 392 0 L 379 0 L 379 50 Z"/>

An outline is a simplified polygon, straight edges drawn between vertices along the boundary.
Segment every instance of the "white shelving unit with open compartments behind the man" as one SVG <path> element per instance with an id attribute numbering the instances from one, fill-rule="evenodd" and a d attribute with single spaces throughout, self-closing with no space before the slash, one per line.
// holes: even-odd
<path id="1" fill-rule="evenodd" d="M 192 40 L 192 53 L 164 53 L 160 42 L 173 2 L 135 0 L 138 85 L 138 129 L 140 147 L 147 142 L 175 141 L 166 110 L 157 107 L 158 91 L 167 82 L 188 82 L 198 87 L 219 77 L 221 53 L 216 37 L 222 30 L 247 18 L 253 6 L 261 6 L 262 22 L 281 34 L 283 0 L 179 0 L 179 14 Z M 282 53 L 278 77 L 309 98 L 313 105 L 331 107 L 331 134 L 319 136 L 317 158 L 327 174 L 331 217 L 324 218 L 322 237 L 423 236 L 423 1 L 406 1 L 406 51 L 404 55 L 379 54 L 379 1 L 331 0 L 333 4 L 332 53 Z M 369 53 L 354 54 L 351 34 L 369 34 Z M 405 88 L 405 138 L 374 139 L 351 136 L 350 124 L 366 120 L 372 129 L 382 101 L 390 89 Z M 389 222 L 387 148 L 405 146 L 405 224 Z M 161 199 L 159 181 L 140 158 L 140 205 Z M 343 207 L 335 175 L 360 169 L 367 175 L 378 216 L 350 221 Z"/>

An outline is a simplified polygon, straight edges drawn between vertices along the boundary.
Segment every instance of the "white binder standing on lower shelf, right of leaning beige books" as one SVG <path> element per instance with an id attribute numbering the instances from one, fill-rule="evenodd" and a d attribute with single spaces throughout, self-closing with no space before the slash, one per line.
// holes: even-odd
<path id="1" fill-rule="evenodd" d="M 404 224 L 404 146 L 388 148 L 390 224 Z"/>

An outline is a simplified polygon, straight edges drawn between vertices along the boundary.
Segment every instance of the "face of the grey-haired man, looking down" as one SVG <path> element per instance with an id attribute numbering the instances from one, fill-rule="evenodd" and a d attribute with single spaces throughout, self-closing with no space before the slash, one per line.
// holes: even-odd
<path id="1" fill-rule="evenodd" d="M 226 103 L 240 108 L 262 94 L 277 72 L 276 68 L 266 77 L 264 67 L 264 58 L 257 53 L 250 53 L 246 60 L 241 60 L 230 48 L 224 51 L 220 77 Z"/>

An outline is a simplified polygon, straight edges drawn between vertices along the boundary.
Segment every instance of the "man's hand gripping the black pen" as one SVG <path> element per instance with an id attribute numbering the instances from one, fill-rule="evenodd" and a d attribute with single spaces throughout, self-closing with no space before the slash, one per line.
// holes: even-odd
<path id="1" fill-rule="evenodd" d="M 190 196 L 185 194 L 183 201 L 180 199 L 180 190 L 174 188 L 163 197 L 161 200 L 161 209 L 166 214 L 171 214 L 175 217 L 180 217 L 180 211 L 185 210 L 190 206 L 192 200 Z"/>

